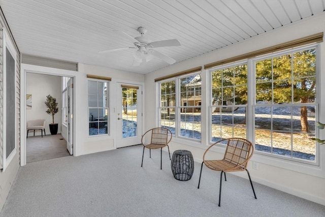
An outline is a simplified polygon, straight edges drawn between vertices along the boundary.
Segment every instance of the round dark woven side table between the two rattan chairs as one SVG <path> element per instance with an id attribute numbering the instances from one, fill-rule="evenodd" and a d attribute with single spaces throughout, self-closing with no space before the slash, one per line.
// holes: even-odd
<path id="1" fill-rule="evenodd" d="M 171 162 L 174 177 L 180 181 L 191 179 L 194 172 L 194 160 L 192 153 L 188 150 L 176 150 Z"/>

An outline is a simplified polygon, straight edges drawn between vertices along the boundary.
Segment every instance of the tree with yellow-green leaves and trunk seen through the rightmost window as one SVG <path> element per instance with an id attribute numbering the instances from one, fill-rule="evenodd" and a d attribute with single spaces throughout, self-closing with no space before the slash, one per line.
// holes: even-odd
<path id="1" fill-rule="evenodd" d="M 256 101 L 310 103 L 316 96 L 316 50 L 301 50 L 256 62 Z M 301 106 L 301 129 L 309 132 L 307 107 Z"/>

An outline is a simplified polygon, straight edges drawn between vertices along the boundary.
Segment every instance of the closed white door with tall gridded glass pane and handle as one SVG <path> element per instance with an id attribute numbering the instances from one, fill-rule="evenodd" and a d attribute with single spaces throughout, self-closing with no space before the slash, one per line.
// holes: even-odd
<path id="1" fill-rule="evenodd" d="M 116 147 L 141 143 L 142 86 L 117 83 L 117 141 Z"/>

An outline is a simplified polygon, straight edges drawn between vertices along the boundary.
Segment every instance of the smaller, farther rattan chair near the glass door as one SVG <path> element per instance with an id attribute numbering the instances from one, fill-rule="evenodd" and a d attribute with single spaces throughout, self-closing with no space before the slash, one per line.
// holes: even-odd
<path id="1" fill-rule="evenodd" d="M 143 134 L 141 138 L 141 143 L 143 145 L 143 153 L 142 153 L 142 162 L 143 164 L 143 156 L 144 149 L 149 148 L 150 158 L 151 158 L 151 149 L 160 148 L 160 169 L 162 169 L 163 164 L 163 147 L 168 147 L 169 160 L 171 160 L 171 153 L 169 151 L 168 143 L 172 140 L 172 132 L 166 128 L 153 128 L 148 130 L 145 134 Z"/>

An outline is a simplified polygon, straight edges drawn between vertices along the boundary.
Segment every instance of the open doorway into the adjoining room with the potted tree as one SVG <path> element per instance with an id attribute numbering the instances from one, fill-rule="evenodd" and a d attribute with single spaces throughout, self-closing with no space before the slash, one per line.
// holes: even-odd
<path id="1" fill-rule="evenodd" d="M 36 132 L 35 136 L 29 133 L 28 138 L 24 137 L 21 165 L 73 154 L 73 78 L 42 72 L 25 72 L 25 93 L 31 96 L 31 103 L 28 102 L 31 105 L 24 106 L 24 126 L 27 120 L 45 119 L 46 136 L 42 137 L 40 132 Z M 56 135 L 51 135 L 49 131 L 52 116 L 45 112 L 45 95 L 53 96 L 58 102 L 59 112 L 54 115 L 59 129 Z"/>

